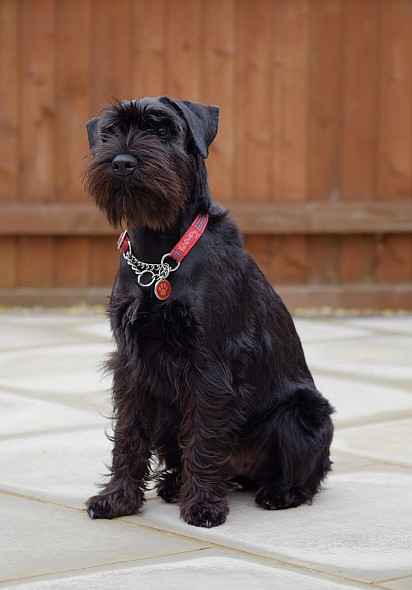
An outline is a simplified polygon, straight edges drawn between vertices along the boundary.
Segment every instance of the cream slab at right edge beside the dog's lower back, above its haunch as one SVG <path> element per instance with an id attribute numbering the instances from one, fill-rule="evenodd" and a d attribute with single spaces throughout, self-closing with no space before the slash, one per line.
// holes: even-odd
<path id="1" fill-rule="evenodd" d="M 315 373 L 327 369 L 353 377 L 362 375 L 412 383 L 411 350 L 412 337 L 386 335 L 310 343 L 305 347 L 305 355 Z"/>

